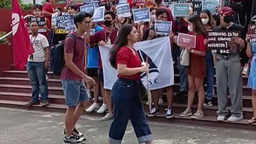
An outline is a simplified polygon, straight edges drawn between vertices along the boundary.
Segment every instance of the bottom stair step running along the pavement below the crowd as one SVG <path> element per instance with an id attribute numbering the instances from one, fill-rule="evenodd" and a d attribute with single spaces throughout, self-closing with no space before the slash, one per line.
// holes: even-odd
<path id="1" fill-rule="evenodd" d="M 47 108 L 42 107 L 42 105 L 35 105 L 32 107 L 25 107 L 26 102 L 23 101 L 11 101 L 11 100 L 0 100 L 0 107 L 12 107 L 12 108 L 26 108 L 29 110 L 46 110 L 46 111 L 58 111 L 65 113 L 66 112 L 66 106 L 65 105 L 58 105 L 58 104 L 52 104 Z M 146 107 L 144 105 L 144 107 Z M 86 115 L 100 115 L 103 116 L 105 114 L 98 114 L 95 111 L 92 113 L 87 113 L 84 111 L 84 114 Z M 145 108 L 145 114 L 148 114 L 148 108 Z M 174 113 L 174 117 L 171 119 L 165 118 L 165 113 L 160 113 L 156 115 L 155 117 L 147 117 L 147 119 L 151 121 L 157 121 L 157 122 L 167 122 L 167 123 L 186 123 L 186 124 L 196 124 L 196 125 L 206 125 L 206 126 L 215 126 L 215 127 L 228 127 L 228 128 L 236 128 L 236 129 L 245 129 L 245 130 L 254 130 L 256 129 L 256 124 L 247 124 L 247 119 L 243 119 L 242 121 L 238 122 L 218 122 L 215 116 L 204 116 L 199 119 L 191 119 L 190 117 L 180 117 L 179 113 Z"/>

